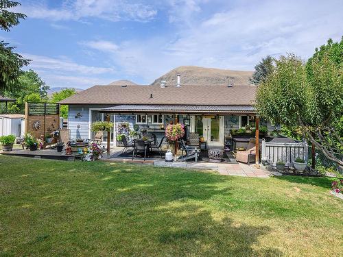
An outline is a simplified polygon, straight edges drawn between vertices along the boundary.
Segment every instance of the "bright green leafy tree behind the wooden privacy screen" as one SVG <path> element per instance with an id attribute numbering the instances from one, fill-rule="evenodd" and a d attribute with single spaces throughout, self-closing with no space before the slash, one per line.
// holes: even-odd
<path id="1" fill-rule="evenodd" d="M 5 91 L 6 97 L 16 99 L 16 102 L 9 103 L 8 112 L 24 113 L 25 101 L 37 103 L 47 101 L 47 90 L 49 86 L 33 71 L 23 71 L 14 83 L 15 91 Z"/>

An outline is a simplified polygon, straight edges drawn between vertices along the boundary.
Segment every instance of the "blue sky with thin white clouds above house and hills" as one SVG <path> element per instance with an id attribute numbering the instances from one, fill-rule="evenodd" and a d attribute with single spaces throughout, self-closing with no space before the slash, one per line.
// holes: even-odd
<path id="1" fill-rule="evenodd" d="M 20 0 L 19 0 L 20 1 Z M 268 54 L 304 60 L 343 36 L 343 1 L 22 0 L 0 40 L 49 86 L 150 84 L 181 65 L 252 71 Z"/>

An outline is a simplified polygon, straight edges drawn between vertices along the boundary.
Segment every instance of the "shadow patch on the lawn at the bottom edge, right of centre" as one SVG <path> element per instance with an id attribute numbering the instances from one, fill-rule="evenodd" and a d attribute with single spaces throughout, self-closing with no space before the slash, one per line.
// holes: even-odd
<path id="1" fill-rule="evenodd" d="M 259 245 L 259 236 L 270 233 L 266 226 L 213 219 L 199 206 L 165 208 L 156 217 L 168 217 L 168 226 L 158 233 L 158 242 L 171 256 L 282 256 L 279 249 Z M 163 218 L 161 218 L 163 219 Z M 155 221 L 156 222 L 156 221 Z M 158 222 L 158 221 L 157 221 Z M 253 247 L 254 246 L 254 247 Z M 261 248 L 259 248 L 261 247 Z"/>

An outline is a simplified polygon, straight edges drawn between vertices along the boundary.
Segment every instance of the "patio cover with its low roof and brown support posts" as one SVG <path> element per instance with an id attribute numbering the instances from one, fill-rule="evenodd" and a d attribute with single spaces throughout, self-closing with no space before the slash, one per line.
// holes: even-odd
<path id="1" fill-rule="evenodd" d="M 219 108 L 220 107 L 220 108 Z M 226 108 L 225 108 L 226 107 Z M 106 121 L 110 122 L 110 114 L 172 114 L 174 116 L 174 123 L 178 123 L 178 115 L 250 115 L 256 117 L 255 119 L 255 162 L 259 164 L 259 117 L 252 106 L 168 106 L 168 105 L 121 105 L 113 106 L 111 108 L 104 108 L 100 112 L 106 115 Z M 243 110 L 239 110 L 243 109 Z M 107 132 L 107 154 L 110 154 L 110 132 Z M 178 144 L 176 143 L 175 151 L 178 151 Z"/>

